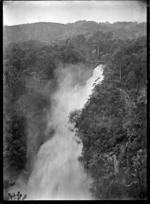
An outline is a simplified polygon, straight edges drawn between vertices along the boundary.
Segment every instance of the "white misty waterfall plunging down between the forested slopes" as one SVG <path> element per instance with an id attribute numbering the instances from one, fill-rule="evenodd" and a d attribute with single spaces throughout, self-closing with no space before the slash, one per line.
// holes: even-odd
<path id="1" fill-rule="evenodd" d="M 72 74 L 64 71 L 59 90 L 53 96 L 53 111 L 48 114 L 48 129 L 53 127 L 56 132 L 39 149 L 27 186 L 27 199 L 92 199 L 91 179 L 78 162 L 82 144 L 77 144 L 68 119 L 71 111 L 83 108 L 95 80 L 97 84 L 103 79 L 102 68 L 96 67 L 84 86 L 72 85 Z"/>

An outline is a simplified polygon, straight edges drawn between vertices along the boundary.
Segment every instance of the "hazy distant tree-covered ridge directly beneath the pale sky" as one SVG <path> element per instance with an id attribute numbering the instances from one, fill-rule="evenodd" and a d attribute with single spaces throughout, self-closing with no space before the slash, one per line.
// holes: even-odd
<path id="1" fill-rule="evenodd" d="M 77 21 L 75 23 L 31 23 L 15 26 L 4 26 L 5 43 L 39 40 L 46 43 L 64 40 L 80 34 L 90 35 L 94 32 L 112 32 L 114 38 L 138 38 L 146 35 L 146 23 L 116 22 L 96 23 L 94 21 Z"/>

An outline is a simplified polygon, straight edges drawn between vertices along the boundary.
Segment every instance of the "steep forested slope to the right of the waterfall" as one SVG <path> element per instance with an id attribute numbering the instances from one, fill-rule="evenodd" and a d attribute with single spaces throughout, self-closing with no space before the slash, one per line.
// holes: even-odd
<path id="1" fill-rule="evenodd" d="M 146 78 L 146 38 L 126 42 L 85 107 L 70 115 L 98 199 L 146 198 Z"/>

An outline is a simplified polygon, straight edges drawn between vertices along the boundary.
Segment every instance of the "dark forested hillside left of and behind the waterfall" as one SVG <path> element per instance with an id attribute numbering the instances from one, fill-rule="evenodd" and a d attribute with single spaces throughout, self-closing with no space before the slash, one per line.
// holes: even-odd
<path id="1" fill-rule="evenodd" d="M 39 147 L 53 135 L 54 130 L 46 134 L 44 129 L 50 97 L 57 89 L 57 68 L 74 64 L 92 70 L 120 44 L 111 33 L 97 32 L 52 45 L 27 41 L 4 47 L 4 167 L 10 183 L 23 169 L 30 173 Z"/>

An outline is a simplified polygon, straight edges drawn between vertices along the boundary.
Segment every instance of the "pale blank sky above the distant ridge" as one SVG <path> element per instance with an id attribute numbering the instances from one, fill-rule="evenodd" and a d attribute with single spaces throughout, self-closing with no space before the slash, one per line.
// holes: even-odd
<path id="1" fill-rule="evenodd" d="M 4 1 L 3 24 L 34 22 L 72 23 L 79 20 L 96 22 L 146 22 L 147 7 L 139 1 Z"/>

